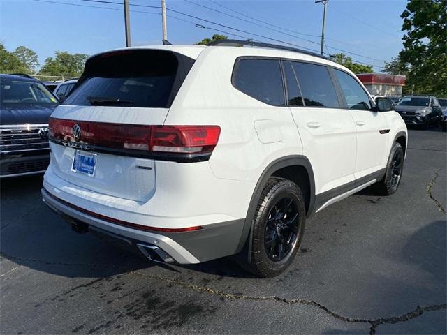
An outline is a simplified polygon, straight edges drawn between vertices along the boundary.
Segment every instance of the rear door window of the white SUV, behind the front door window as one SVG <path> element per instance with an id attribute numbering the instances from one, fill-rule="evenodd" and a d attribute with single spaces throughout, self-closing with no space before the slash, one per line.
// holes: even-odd
<path id="1" fill-rule="evenodd" d="M 326 66 L 292 61 L 306 106 L 340 107 L 334 83 Z"/>

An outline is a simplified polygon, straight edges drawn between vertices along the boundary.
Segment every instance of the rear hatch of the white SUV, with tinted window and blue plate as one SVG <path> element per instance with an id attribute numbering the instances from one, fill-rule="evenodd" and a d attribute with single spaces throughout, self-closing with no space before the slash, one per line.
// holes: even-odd
<path id="1" fill-rule="evenodd" d="M 170 50 L 91 57 L 73 93 L 50 119 L 54 174 L 95 193 L 149 200 L 156 187 L 150 141 L 157 129 L 163 131 L 193 63 Z"/>

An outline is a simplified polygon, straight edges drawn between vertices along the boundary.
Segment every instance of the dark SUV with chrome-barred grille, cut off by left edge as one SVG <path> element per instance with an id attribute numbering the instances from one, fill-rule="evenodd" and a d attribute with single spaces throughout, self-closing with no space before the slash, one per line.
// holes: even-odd
<path id="1" fill-rule="evenodd" d="M 48 119 L 59 105 L 44 84 L 0 75 L 0 177 L 45 172 L 50 155 Z"/>

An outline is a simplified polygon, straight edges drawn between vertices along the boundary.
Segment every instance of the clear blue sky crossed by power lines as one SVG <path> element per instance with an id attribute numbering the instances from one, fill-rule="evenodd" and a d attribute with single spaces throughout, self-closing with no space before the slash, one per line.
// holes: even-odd
<path id="1" fill-rule="evenodd" d="M 0 43 L 9 51 L 29 47 L 41 64 L 56 51 L 95 54 L 125 47 L 122 2 L 0 0 Z M 161 44 L 161 0 L 129 3 L 132 45 Z M 173 44 L 223 34 L 320 50 L 323 4 L 314 0 L 166 0 L 166 6 Z M 379 72 L 383 61 L 402 50 L 400 15 L 405 6 L 404 0 L 329 0 L 324 52 L 344 50 Z"/>

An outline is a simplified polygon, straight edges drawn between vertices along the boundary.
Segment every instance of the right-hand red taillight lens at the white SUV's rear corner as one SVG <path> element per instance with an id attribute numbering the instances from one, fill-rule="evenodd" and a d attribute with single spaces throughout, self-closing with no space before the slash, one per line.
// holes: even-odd
<path id="1" fill-rule="evenodd" d="M 220 133 L 219 126 L 153 126 L 151 149 L 179 154 L 210 152 Z"/>

